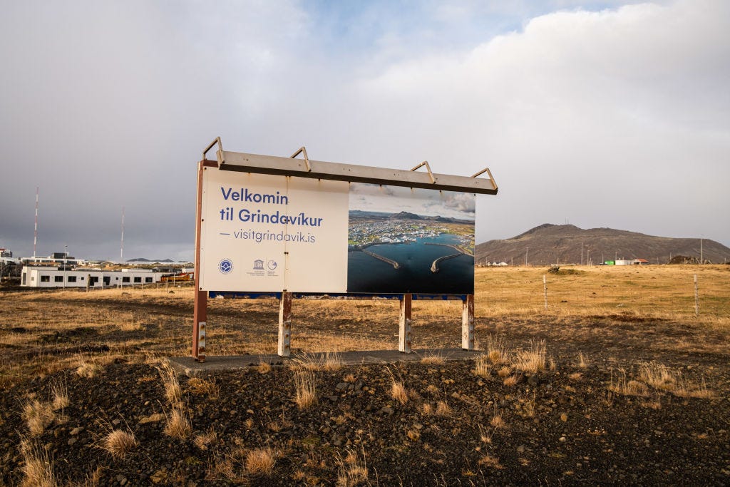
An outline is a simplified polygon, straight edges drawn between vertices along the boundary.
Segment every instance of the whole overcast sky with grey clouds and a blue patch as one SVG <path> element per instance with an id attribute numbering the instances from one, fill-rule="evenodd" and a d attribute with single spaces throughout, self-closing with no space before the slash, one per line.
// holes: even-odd
<path id="1" fill-rule="evenodd" d="M 190 259 L 226 150 L 472 175 L 542 223 L 730 245 L 730 2 L 0 0 L 0 247 Z"/>

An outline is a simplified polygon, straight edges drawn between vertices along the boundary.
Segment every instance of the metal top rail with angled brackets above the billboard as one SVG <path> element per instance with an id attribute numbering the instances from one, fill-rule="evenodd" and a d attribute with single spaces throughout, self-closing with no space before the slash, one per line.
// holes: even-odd
<path id="1" fill-rule="evenodd" d="M 205 154 L 218 144 L 216 157 L 218 169 L 223 171 L 254 172 L 257 174 L 310 177 L 323 180 L 347 181 L 350 183 L 371 183 L 380 185 L 405 186 L 407 188 L 424 188 L 439 191 L 461 191 L 465 193 L 496 194 L 497 185 L 488 168 L 482 169 L 472 177 L 441 175 L 431 172 L 427 161 L 415 166 L 410 171 L 403 169 L 387 169 L 383 167 L 358 166 L 356 164 L 340 164 L 337 162 L 312 161 L 307 150 L 301 147 L 291 157 L 260 156 L 223 150 L 220 137 L 215 139 Z M 302 154 L 304 159 L 296 159 Z M 416 172 L 426 166 L 428 172 Z M 477 176 L 486 173 L 488 179 Z"/>

